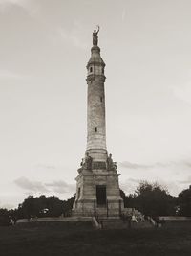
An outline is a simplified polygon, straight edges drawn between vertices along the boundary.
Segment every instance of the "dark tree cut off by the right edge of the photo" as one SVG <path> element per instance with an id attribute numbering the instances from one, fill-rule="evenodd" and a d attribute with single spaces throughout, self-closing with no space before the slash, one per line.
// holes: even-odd
<path id="1" fill-rule="evenodd" d="M 191 217 L 191 186 L 180 192 L 178 201 L 180 204 L 180 215 Z"/>

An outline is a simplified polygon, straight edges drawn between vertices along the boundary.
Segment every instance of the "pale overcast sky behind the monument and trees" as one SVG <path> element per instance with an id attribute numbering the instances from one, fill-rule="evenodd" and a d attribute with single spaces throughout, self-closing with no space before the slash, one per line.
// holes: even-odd
<path id="1" fill-rule="evenodd" d="M 74 194 L 97 24 L 120 187 L 191 184 L 190 11 L 190 0 L 0 0 L 0 207 Z"/>

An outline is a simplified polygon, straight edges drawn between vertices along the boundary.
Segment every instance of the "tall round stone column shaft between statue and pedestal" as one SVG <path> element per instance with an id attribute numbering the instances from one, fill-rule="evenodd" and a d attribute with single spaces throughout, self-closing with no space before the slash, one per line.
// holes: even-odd
<path id="1" fill-rule="evenodd" d="M 98 46 L 92 48 L 88 62 L 87 152 L 93 160 L 106 160 L 104 67 Z"/>

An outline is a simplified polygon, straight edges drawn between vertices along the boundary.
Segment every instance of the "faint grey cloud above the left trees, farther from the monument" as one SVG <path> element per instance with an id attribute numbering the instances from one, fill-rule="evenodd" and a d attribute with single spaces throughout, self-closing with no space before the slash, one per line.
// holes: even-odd
<path id="1" fill-rule="evenodd" d="M 40 193 L 50 192 L 46 188 L 46 186 L 42 184 L 40 181 L 31 181 L 26 177 L 19 177 L 18 179 L 14 180 L 14 183 L 20 188 L 30 192 L 40 192 Z"/>

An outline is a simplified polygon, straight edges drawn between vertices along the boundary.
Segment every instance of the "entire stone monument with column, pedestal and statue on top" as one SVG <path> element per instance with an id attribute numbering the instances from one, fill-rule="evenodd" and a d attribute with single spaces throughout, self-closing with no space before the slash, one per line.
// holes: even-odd
<path id="1" fill-rule="evenodd" d="M 118 187 L 117 163 L 106 148 L 105 63 L 98 47 L 99 27 L 93 32 L 87 64 L 87 148 L 76 177 L 74 216 L 119 217 L 123 201 Z"/>

